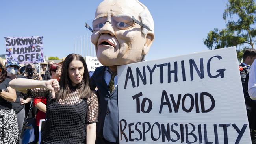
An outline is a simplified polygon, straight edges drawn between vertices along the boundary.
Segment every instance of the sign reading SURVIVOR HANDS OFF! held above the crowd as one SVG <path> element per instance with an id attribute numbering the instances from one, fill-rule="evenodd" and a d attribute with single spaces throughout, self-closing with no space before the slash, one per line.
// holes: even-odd
<path id="1" fill-rule="evenodd" d="M 5 37 L 6 60 L 20 64 L 42 63 L 43 37 Z"/>

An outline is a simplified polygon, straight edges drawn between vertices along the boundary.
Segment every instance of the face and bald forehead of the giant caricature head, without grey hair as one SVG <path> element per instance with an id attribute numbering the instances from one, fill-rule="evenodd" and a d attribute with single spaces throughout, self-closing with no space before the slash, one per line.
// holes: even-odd
<path id="1" fill-rule="evenodd" d="M 143 7 L 135 0 L 104 0 L 96 9 L 91 42 L 98 60 L 104 66 L 125 65 L 141 61 L 147 35 L 132 16 L 140 20 Z M 154 37 L 154 33 L 149 33 Z M 151 44 L 150 44 L 151 45 Z"/>

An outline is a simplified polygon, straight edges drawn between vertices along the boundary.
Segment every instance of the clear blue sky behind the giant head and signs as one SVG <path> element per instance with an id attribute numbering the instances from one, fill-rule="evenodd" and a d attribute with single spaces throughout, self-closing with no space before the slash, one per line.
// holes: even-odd
<path id="1" fill-rule="evenodd" d="M 73 53 L 74 38 L 91 34 L 84 24 L 94 18 L 101 1 L 1 0 L 0 54 L 6 53 L 6 36 L 43 36 L 47 56 L 61 58 Z M 203 39 L 207 33 L 225 27 L 222 14 L 227 0 L 140 2 L 148 7 L 155 24 L 155 41 L 147 60 L 206 51 Z"/>

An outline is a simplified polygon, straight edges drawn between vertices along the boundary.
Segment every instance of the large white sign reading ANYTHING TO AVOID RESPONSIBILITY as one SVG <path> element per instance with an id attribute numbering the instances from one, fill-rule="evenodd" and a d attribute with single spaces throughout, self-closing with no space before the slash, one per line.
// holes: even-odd
<path id="1" fill-rule="evenodd" d="M 118 66 L 120 144 L 251 144 L 236 48 Z"/>

